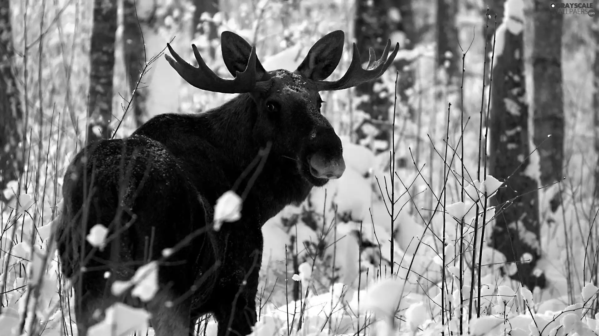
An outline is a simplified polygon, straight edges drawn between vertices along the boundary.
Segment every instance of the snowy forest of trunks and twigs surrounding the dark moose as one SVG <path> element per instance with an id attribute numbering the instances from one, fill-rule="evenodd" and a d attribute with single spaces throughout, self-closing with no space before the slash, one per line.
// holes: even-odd
<path id="1" fill-rule="evenodd" d="M 76 334 L 49 238 L 84 143 L 230 99 L 184 83 L 167 42 L 226 77 L 224 30 L 294 70 L 341 29 L 333 79 L 352 42 L 401 51 L 323 94 L 348 168 L 263 227 L 255 333 L 597 335 L 599 3 L 551 4 L 0 0 L 0 331 Z M 143 310 L 112 312 L 145 334 Z"/>

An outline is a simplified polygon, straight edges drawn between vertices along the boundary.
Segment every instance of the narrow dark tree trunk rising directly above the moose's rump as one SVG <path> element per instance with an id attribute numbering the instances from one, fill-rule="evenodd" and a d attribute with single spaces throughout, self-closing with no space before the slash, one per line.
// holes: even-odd
<path id="1" fill-rule="evenodd" d="M 94 0 L 86 143 L 111 137 L 116 0 Z"/>

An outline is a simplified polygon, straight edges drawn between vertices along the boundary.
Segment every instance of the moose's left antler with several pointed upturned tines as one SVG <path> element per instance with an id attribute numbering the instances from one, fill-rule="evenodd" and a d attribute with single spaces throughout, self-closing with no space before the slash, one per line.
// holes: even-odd
<path id="1" fill-rule="evenodd" d="M 193 55 L 198 61 L 198 68 L 187 63 L 177 54 L 170 44 L 167 43 L 168 51 L 173 57 L 165 54 L 168 63 L 177 71 L 187 83 L 200 88 L 201 90 L 220 92 L 220 93 L 247 93 L 256 90 L 256 47 L 252 47 L 247 67 L 244 72 L 235 74 L 234 80 L 226 80 L 214 74 L 202 59 L 198 48 L 192 44 Z"/>

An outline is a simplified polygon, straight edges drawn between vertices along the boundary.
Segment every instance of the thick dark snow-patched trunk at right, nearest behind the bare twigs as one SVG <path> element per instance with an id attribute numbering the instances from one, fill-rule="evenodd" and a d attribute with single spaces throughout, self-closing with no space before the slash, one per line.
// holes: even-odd
<path id="1" fill-rule="evenodd" d="M 512 22 L 518 25 L 517 22 Z M 522 27 L 523 28 L 523 27 Z M 518 271 L 512 279 L 533 289 L 544 288 L 544 274 L 533 270 L 540 258 L 539 194 L 537 181 L 527 175 L 530 161 L 528 105 L 524 80 L 522 29 L 505 30 L 503 53 L 495 51 L 491 113 L 489 115 L 489 173 L 500 181 L 511 176 L 497 191 L 500 205 L 495 216 L 491 246 L 503 253 L 507 262 L 515 262 Z M 530 262 L 519 262 L 530 253 Z M 514 267 L 509 265 L 509 267 Z"/>

